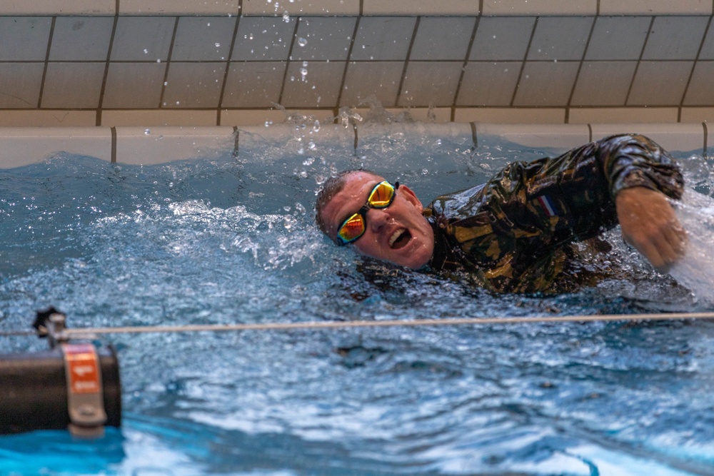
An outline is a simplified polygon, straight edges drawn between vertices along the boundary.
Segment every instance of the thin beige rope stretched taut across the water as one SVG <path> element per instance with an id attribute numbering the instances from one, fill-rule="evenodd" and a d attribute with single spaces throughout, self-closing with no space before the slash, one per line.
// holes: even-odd
<path id="1" fill-rule="evenodd" d="M 447 318 L 415 320 L 345 320 L 345 321 L 308 321 L 298 323 L 236 323 L 236 324 L 196 324 L 196 325 L 146 325 L 104 328 L 67 328 L 68 337 L 87 337 L 104 334 L 127 333 L 191 333 L 223 332 L 242 330 L 301 330 L 301 329 L 341 329 L 370 327 L 417 327 L 440 325 L 485 325 L 485 324 L 526 324 L 526 323 L 588 323 L 608 321 L 655 321 L 655 320 L 696 320 L 714 319 L 711 313 L 660 313 L 660 314 L 603 314 L 603 315 L 562 315 L 562 316 L 525 316 L 494 318 Z M 8 331 L 0 335 L 36 335 L 34 331 Z"/>

